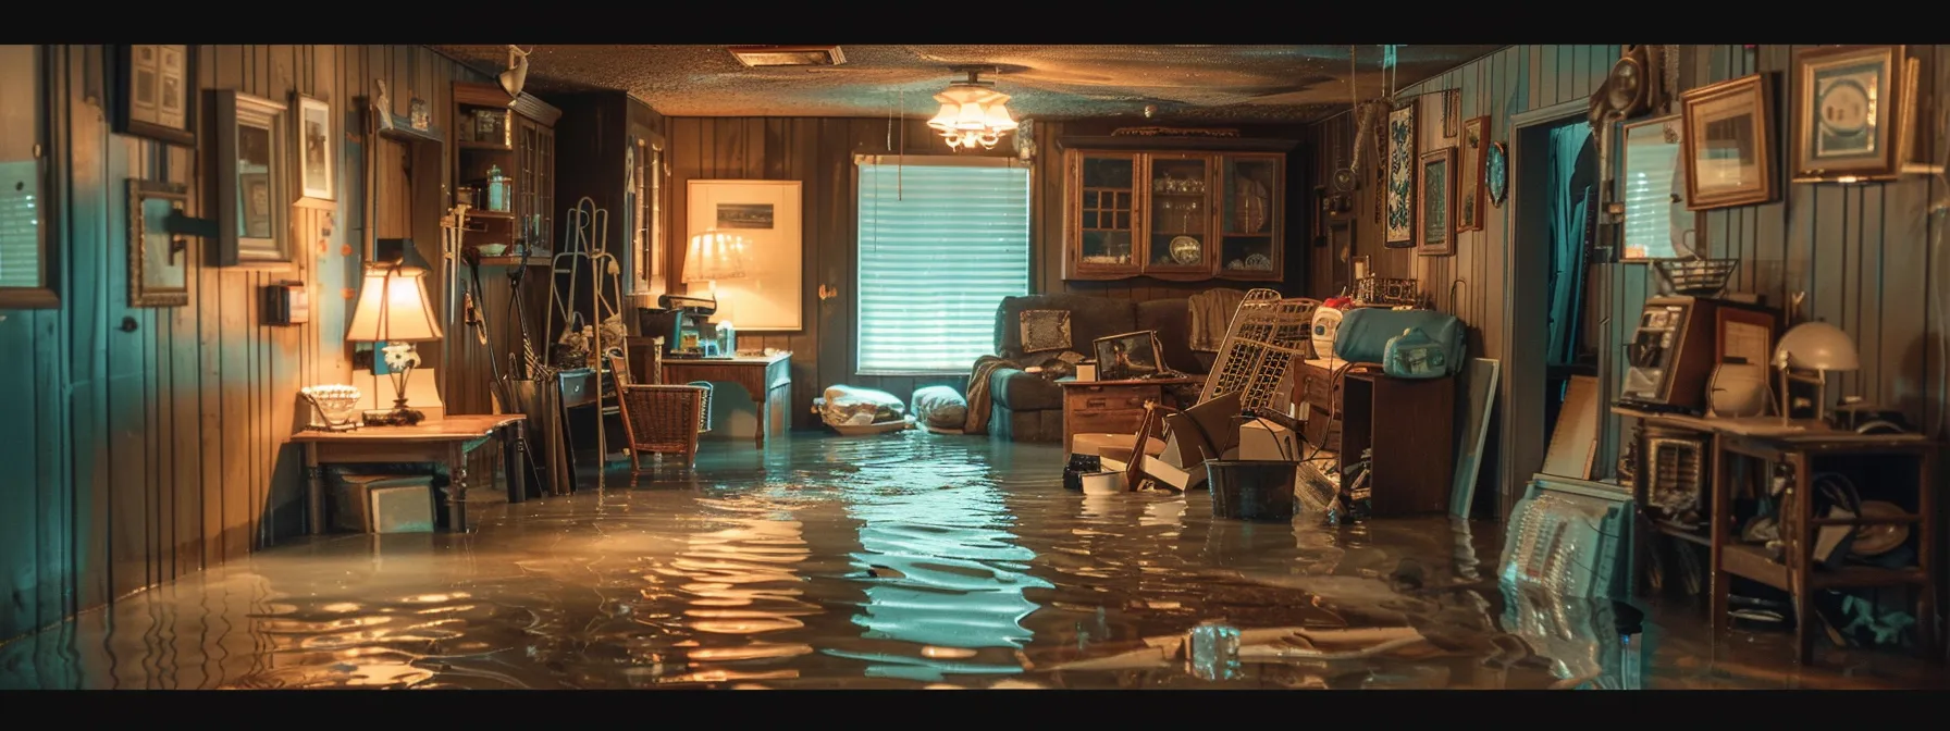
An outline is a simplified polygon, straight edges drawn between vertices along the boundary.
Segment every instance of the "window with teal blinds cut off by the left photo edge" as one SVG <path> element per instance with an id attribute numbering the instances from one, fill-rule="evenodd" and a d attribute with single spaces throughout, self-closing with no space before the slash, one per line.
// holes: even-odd
<path id="1" fill-rule="evenodd" d="M 41 47 L 0 45 L 0 308 L 51 308 Z"/>

